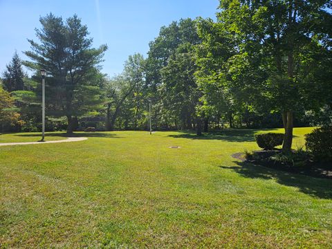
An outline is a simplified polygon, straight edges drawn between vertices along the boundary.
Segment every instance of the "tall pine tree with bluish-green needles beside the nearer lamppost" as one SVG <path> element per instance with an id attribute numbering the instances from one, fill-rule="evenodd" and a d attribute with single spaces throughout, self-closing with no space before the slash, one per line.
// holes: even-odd
<path id="1" fill-rule="evenodd" d="M 37 82 L 42 81 L 39 69 L 46 70 L 46 111 L 54 117 L 66 116 L 71 132 L 74 117 L 100 108 L 99 64 L 107 46 L 92 48 L 93 39 L 76 15 L 64 22 L 50 13 L 40 23 L 42 28 L 36 30 L 40 43 L 28 40 L 31 50 L 25 54 L 31 61 L 25 64 L 35 71 Z"/>

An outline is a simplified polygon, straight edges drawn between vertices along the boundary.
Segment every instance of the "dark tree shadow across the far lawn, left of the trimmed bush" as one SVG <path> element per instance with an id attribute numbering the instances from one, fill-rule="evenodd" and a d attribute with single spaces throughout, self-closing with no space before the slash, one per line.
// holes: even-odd
<path id="1" fill-rule="evenodd" d="M 269 129 L 274 130 L 274 129 Z M 194 140 L 224 140 L 229 142 L 254 142 L 255 133 L 258 129 L 224 129 L 221 131 L 212 131 L 197 136 L 194 131 L 181 131 L 178 135 L 169 135 L 172 138 L 188 138 Z"/>

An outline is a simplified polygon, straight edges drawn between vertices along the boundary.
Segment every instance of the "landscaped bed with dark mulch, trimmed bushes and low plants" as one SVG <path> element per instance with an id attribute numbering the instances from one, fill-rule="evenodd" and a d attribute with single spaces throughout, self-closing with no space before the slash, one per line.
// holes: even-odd
<path id="1" fill-rule="evenodd" d="M 323 126 L 304 135 L 304 145 L 297 149 L 284 150 L 284 133 L 255 133 L 259 151 L 234 153 L 246 163 L 253 163 L 295 174 L 304 174 L 319 178 L 332 178 L 332 127 Z M 283 147 L 282 147 L 283 146 Z M 276 149 L 282 147 L 282 149 Z"/>

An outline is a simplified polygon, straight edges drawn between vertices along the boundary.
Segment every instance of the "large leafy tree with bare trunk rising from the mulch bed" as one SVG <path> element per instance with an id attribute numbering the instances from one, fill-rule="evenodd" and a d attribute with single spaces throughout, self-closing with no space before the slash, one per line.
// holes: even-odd
<path id="1" fill-rule="evenodd" d="M 288 113 L 331 100 L 330 1 L 221 1 L 218 20 L 201 20 L 196 75 L 204 104 L 233 113 Z M 314 18 L 311 18 L 314 17 Z M 288 126 L 286 125 L 288 124 Z"/>

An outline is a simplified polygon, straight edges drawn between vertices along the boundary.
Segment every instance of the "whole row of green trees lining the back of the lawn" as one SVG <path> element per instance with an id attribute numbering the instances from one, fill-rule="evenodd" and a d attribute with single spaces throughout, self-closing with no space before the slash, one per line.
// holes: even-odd
<path id="1" fill-rule="evenodd" d="M 107 46 L 92 48 L 77 16 L 40 21 L 39 43 L 29 40 L 24 62 L 35 75 L 26 77 L 17 55 L 3 75 L 26 126 L 40 120 L 41 68 L 48 72 L 47 114 L 66 117 L 68 132 L 91 122 L 99 129 L 145 129 L 148 100 L 155 129 L 200 135 L 209 127 L 283 125 L 284 151 L 291 149 L 294 122 L 331 124 L 330 1 L 222 0 L 216 21 L 181 19 L 162 27 L 147 58 L 129 56 L 111 78 L 100 73 Z"/>

